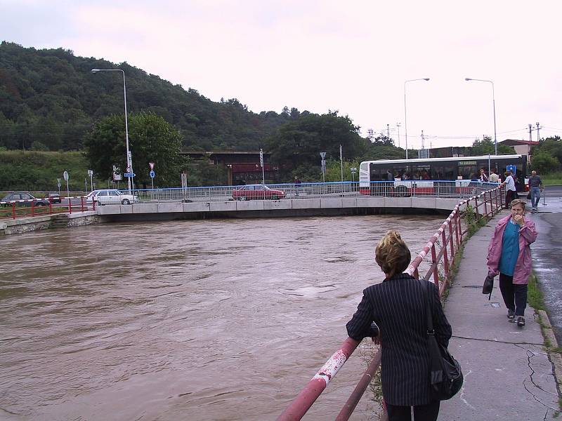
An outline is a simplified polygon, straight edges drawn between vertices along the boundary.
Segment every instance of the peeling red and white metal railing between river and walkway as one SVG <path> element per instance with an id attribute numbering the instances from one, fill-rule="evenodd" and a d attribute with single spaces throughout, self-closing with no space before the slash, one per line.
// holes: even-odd
<path id="1" fill-rule="evenodd" d="M 497 213 L 498 210 L 502 209 L 503 198 L 503 187 L 496 187 L 495 189 L 481 192 L 481 194 L 471 196 L 469 199 L 459 202 L 443 224 L 441 224 L 437 232 L 431 236 L 423 250 L 412 260 L 406 272 L 419 279 L 419 265 L 421 262 L 424 262 L 431 252 L 431 264 L 426 274 L 423 276 L 423 279 L 429 281 L 429 279 L 433 277 L 433 282 L 438 287 L 440 295 L 442 295 L 445 288 L 450 284 L 451 267 L 455 262 L 455 258 L 458 257 L 457 251 L 459 250 L 459 246 L 462 245 L 463 236 L 466 235 L 468 230 L 468 227 L 464 230 L 462 229 L 460 215 L 462 208 L 466 208 L 468 205 L 472 206 L 472 203 L 474 203 L 473 208 L 477 215 L 492 216 Z M 484 210 L 484 212 L 481 212 L 481 210 Z M 442 241 L 442 243 L 440 244 L 440 250 L 437 251 L 436 244 L 439 245 L 439 241 Z M 439 276 L 438 266 L 442 258 L 444 276 Z M 353 354 L 353 351 L 355 351 L 359 343 L 360 342 L 353 338 L 347 338 L 343 345 L 332 354 L 324 366 L 322 366 L 310 382 L 308 382 L 308 385 L 301 390 L 289 406 L 277 417 L 277 421 L 301 420 L 316 399 L 318 399 L 318 396 L 320 396 L 327 387 L 329 381 L 332 380 L 341 367 L 344 366 L 344 363 L 351 354 Z M 380 361 L 381 352 L 379 351 L 367 367 L 367 370 L 365 370 L 360 382 L 344 404 L 344 407 L 341 408 L 339 415 L 336 417 L 337 421 L 349 419 L 361 399 L 362 394 L 365 392 L 365 389 L 367 389 L 374 373 L 376 373 L 379 368 Z M 387 419 L 385 412 L 381 420 L 384 421 Z"/>

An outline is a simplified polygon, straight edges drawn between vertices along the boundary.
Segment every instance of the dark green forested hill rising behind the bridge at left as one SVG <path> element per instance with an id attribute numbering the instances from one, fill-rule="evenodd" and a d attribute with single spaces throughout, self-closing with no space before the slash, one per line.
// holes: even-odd
<path id="1" fill-rule="evenodd" d="M 298 114 L 249 112 L 238 100 L 213 102 L 195 89 L 72 51 L 0 44 L 0 147 L 81 149 L 82 136 L 107 114 L 122 114 L 123 69 L 130 113 L 152 111 L 179 128 L 186 149 L 256 150 L 277 127 Z M 293 116 L 291 115 L 293 114 Z"/>

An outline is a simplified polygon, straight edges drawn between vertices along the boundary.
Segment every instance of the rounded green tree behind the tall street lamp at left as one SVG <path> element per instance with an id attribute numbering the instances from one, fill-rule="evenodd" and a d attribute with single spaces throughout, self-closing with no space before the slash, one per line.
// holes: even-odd
<path id="1" fill-rule="evenodd" d="M 161 116 L 141 112 L 129 115 L 129 150 L 133 158 L 135 183 L 150 185 L 149 162 L 155 163 L 155 185 L 179 185 L 186 161 L 178 154 L 182 145 L 181 133 Z M 111 178 L 112 166 L 126 167 L 124 116 L 107 116 L 93 127 L 84 139 L 86 158 L 98 178 Z"/>

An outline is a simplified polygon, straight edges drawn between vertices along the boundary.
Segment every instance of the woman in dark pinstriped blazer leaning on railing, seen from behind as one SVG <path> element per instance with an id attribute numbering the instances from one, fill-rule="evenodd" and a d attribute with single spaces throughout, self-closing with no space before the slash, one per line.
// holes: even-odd
<path id="1" fill-rule="evenodd" d="M 413 406 L 415 421 L 435 421 L 440 401 L 433 399 L 429 383 L 427 289 L 426 284 L 403 273 L 410 258 L 400 234 L 387 232 L 375 250 L 375 261 L 386 278 L 363 290 L 362 300 L 346 328 L 355 340 L 377 336 L 381 343 L 381 383 L 388 420 L 409 421 Z M 433 283 L 429 287 L 435 338 L 447 347 L 451 326 L 443 313 L 438 289 Z"/>

